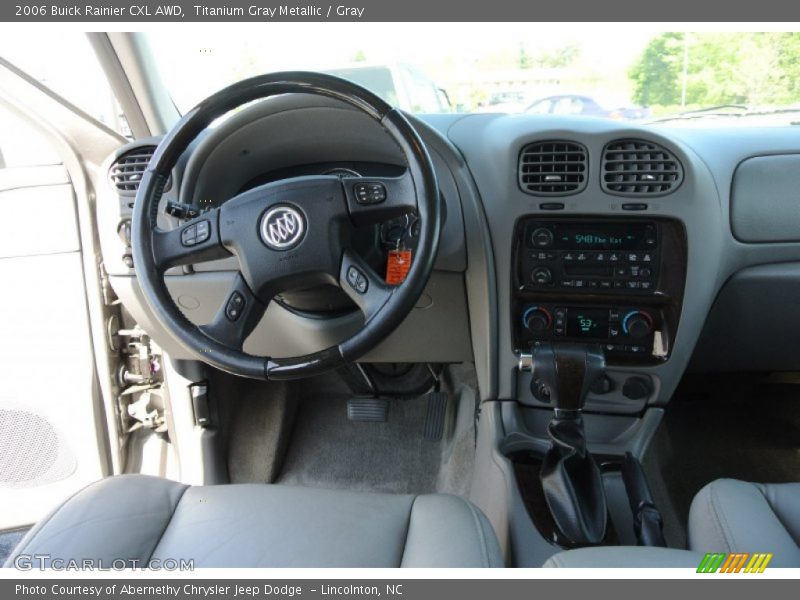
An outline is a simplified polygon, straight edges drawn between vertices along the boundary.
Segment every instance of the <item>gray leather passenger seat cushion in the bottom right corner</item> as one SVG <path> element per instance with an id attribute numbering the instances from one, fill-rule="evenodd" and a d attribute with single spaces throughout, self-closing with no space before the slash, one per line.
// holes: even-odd
<path id="1" fill-rule="evenodd" d="M 717 479 L 689 512 L 697 552 L 772 552 L 771 567 L 800 567 L 800 483 Z"/>

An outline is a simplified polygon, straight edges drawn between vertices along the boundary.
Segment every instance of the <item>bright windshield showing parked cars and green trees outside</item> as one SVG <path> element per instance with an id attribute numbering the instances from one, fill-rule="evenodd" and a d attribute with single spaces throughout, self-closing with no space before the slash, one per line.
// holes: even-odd
<path id="1" fill-rule="evenodd" d="M 800 34 L 642 24 L 281 24 L 148 34 L 181 111 L 234 81 L 323 71 L 415 113 L 793 123 Z"/>

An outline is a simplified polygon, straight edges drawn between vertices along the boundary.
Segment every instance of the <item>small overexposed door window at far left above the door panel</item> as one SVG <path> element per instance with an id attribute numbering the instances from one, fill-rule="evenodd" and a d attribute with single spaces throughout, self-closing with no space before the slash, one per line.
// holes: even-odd
<path id="1" fill-rule="evenodd" d="M 0 172 L 60 163 L 50 140 L 19 115 L 0 106 Z"/>

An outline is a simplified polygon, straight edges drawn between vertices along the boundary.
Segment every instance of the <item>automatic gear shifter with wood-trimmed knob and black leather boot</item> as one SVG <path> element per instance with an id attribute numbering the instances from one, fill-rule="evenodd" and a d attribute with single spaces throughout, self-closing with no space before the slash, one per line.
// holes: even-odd
<path id="1" fill-rule="evenodd" d="M 533 348 L 533 382 L 554 407 L 547 426 L 550 449 L 542 461 L 545 500 L 560 532 L 575 546 L 599 544 L 608 509 L 597 463 L 586 449 L 581 410 L 592 383 L 603 373 L 600 346 L 539 343 Z"/>

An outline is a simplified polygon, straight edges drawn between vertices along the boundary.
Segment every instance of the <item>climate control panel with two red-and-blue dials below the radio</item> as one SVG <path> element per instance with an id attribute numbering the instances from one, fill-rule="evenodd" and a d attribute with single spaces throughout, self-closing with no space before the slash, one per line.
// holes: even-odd
<path id="1" fill-rule="evenodd" d="M 636 306 L 598 307 L 573 304 L 523 305 L 518 316 L 519 342 L 596 342 L 612 354 L 654 355 L 660 352 L 659 310 Z"/>

